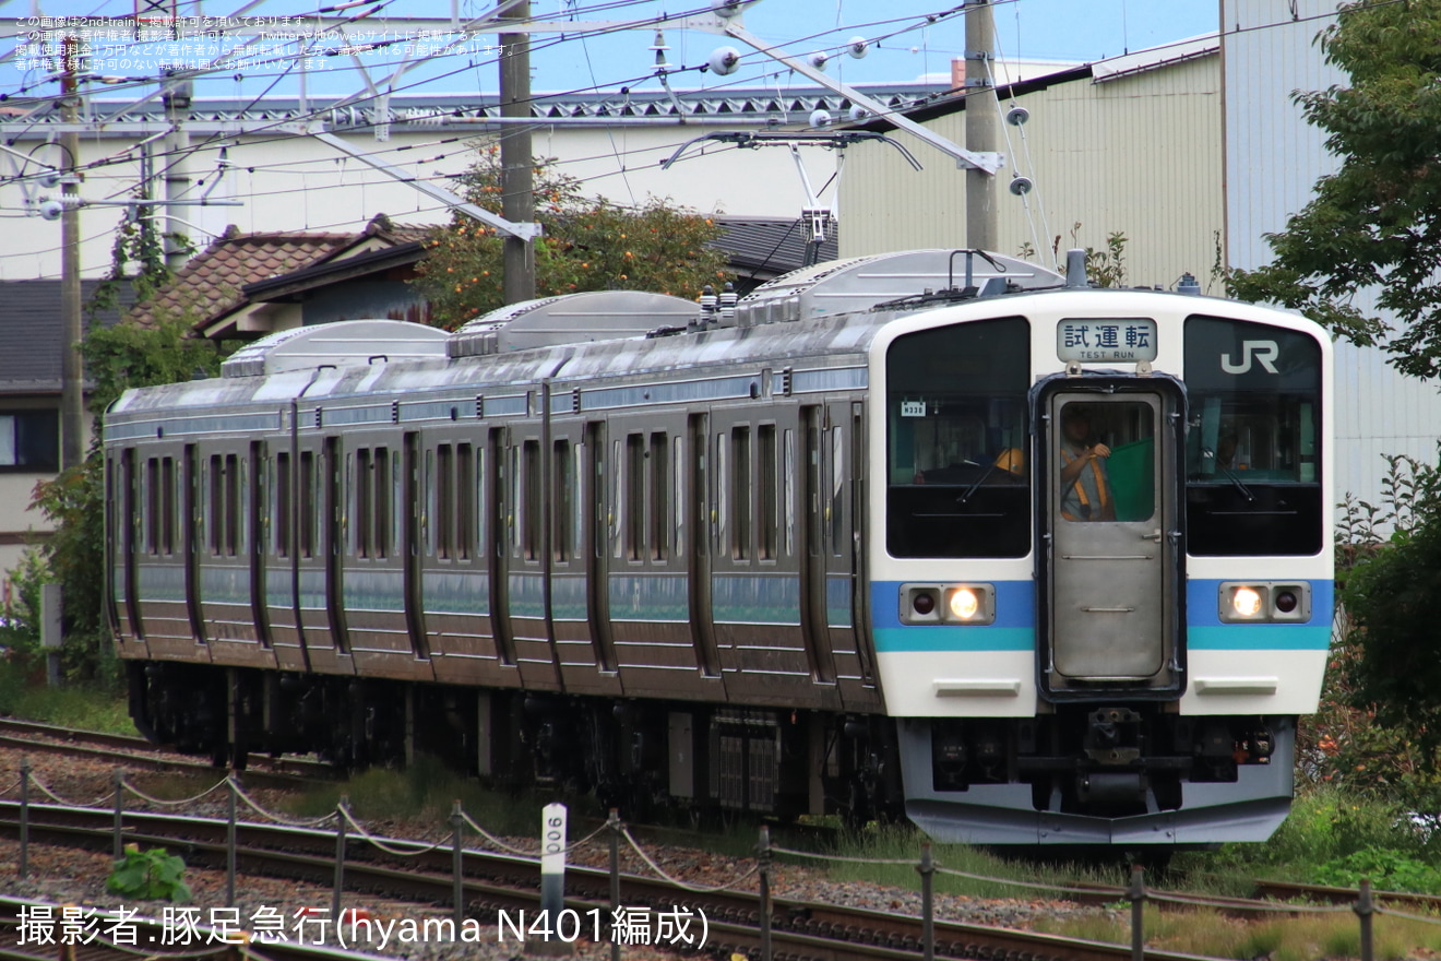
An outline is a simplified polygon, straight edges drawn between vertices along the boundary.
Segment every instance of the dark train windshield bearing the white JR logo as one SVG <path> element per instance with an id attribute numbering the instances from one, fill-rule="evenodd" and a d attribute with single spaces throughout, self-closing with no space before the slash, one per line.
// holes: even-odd
<path id="1" fill-rule="evenodd" d="M 1314 555 L 1321 349 L 1308 336 L 1186 320 L 1186 527 L 1192 555 Z"/>

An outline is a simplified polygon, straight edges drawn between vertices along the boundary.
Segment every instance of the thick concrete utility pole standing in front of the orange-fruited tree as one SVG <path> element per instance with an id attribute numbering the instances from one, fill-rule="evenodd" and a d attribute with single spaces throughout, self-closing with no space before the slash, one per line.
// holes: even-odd
<path id="1" fill-rule="evenodd" d="M 525 23 L 530 19 L 530 0 L 522 0 L 506 12 L 506 20 Z M 500 115 L 530 117 L 530 35 L 500 35 Z M 504 127 L 500 134 L 500 197 L 501 215 L 512 223 L 535 220 L 535 156 L 530 148 L 530 125 Z M 535 300 L 536 249 L 530 239 L 506 236 L 506 303 Z"/>

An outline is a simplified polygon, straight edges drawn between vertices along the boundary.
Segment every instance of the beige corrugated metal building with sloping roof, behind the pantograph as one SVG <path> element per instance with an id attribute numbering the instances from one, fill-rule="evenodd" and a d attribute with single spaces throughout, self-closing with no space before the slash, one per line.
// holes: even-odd
<path id="1" fill-rule="evenodd" d="M 1013 105 L 1030 114 L 1023 127 L 1001 124 L 1000 252 L 1029 243 L 1048 262 L 1059 236 L 1063 261 L 1066 248 L 1101 249 L 1121 232 L 1130 284 L 1169 287 L 1183 271 L 1210 284 L 1223 226 L 1215 37 L 1019 81 L 974 102 L 997 109 L 997 99 L 1003 115 Z M 909 117 L 964 144 L 965 109 L 965 98 L 953 97 Z M 925 170 L 883 146 L 853 148 L 840 187 L 842 256 L 965 246 L 965 173 L 918 138 L 889 133 Z M 1007 190 L 1017 173 L 1035 182 L 1026 197 Z"/>

